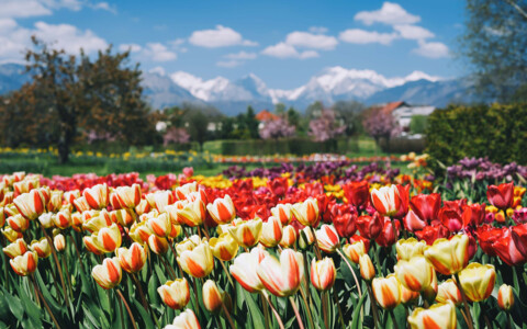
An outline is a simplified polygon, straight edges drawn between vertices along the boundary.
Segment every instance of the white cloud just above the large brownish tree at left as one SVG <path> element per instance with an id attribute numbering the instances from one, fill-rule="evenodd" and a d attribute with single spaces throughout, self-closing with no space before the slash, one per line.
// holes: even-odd
<path id="1" fill-rule="evenodd" d="M 53 25 L 44 22 L 36 22 L 35 27 L 37 37 L 53 43 L 54 47 L 63 48 L 66 53 L 77 53 L 80 48 L 92 53 L 108 47 L 106 42 L 90 30 L 80 31 L 69 24 Z"/>

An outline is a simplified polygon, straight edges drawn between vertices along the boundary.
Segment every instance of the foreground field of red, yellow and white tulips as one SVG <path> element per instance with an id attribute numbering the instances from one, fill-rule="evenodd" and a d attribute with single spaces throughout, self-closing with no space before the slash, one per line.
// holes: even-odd
<path id="1" fill-rule="evenodd" d="M 0 328 L 524 328 L 527 168 L 0 175 Z"/>

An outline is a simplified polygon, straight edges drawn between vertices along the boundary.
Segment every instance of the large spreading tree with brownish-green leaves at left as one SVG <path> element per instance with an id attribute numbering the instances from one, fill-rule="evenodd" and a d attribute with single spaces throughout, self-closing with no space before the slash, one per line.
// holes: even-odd
<path id="1" fill-rule="evenodd" d="M 81 49 L 79 58 L 52 49 L 32 37 L 26 69 L 33 76 L 37 102 L 56 118 L 59 161 L 68 161 L 79 133 L 127 144 L 142 144 L 154 136 L 154 122 L 142 99 L 138 65 L 128 68 L 130 53 L 99 52 L 94 61 Z"/>

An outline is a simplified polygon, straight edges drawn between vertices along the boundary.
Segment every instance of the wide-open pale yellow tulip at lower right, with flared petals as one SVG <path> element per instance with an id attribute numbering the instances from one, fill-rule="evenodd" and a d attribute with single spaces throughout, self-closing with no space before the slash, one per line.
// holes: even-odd
<path id="1" fill-rule="evenodd" d="M 425 257 L 441 274 L 459 273 L 469 263 L 469 237 L 456 235 L 450 240 L 437 239 L 426 248 Z"/>

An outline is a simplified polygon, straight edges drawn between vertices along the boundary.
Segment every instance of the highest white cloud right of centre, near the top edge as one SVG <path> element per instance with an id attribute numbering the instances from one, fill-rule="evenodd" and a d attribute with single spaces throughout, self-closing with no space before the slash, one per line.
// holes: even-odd
<path id="1" fill-rule="evenodd" d="M 399 3 L 388 1 L 384 2 L 379 10 L 358 12 L 354 19 L 366 25 L 373 23 L 384 23 L 389 25 L 414 24 L 421 21 L 419 16 L 408 13 Z"/>

